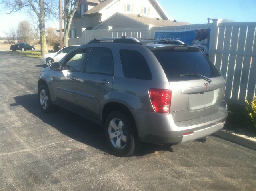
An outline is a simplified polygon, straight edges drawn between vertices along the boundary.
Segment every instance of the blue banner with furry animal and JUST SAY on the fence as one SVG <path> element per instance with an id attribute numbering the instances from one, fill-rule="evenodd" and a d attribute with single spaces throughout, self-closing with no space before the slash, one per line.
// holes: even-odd
<path id="1" fill-rule="evenodd" d="M 196 29 L 189 31 L 155 31 L 155 39 L 170 39 L 170 40 L 181 40 L 187 45 L 195 46 L 200 49 L 200 52 L 209 54 L 209 42 L 210 42 L 210 28 Z"/>

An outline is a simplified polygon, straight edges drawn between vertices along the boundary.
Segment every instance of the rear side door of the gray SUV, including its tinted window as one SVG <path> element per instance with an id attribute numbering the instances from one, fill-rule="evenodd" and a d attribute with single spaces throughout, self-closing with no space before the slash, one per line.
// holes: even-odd
<path id="1" fill-rule="evenodd" d="M 100 107 L 110 99 L 114 78 L 112 52 L 108 48 L 92 48 L 86 68 L 78 78 L 76 100 L 80 110 L 100 119 Z"/>

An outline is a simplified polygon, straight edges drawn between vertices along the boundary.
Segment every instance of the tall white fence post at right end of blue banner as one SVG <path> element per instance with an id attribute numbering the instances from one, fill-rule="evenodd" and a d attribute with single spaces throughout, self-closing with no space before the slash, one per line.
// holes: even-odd
<path id="1" fill-rule="evenodd" d="M 215 64 L 215 55 L 216 48 L 218 44 L 218 24 L 222 19 L 212 19 L 212 29 L 210 34 L 210 43 L 209 43 L 209 58 Z"/>

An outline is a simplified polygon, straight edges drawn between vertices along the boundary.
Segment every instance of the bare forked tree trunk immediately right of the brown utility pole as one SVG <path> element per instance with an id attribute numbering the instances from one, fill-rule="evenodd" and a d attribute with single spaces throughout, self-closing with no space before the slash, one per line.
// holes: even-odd
<path id="1" fill-rule="evenodd" d="M 74 14 L 80 0 L 64 0 L 64 35 L 63 46 L 68 46 L 68 34 Z M 61 29 L 60 29 L 61 30 Z"/>

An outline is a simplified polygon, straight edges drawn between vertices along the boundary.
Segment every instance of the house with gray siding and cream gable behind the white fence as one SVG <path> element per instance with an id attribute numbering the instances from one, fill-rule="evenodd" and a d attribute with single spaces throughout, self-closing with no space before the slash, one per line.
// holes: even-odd
<path id="1" fill-rule="evenodd" d="M 70 38 L 82 36 L 83 30 L 140 28 L 145 25 L 175 26 L 157 0 L 82 0 L 72 20 Z"/>

